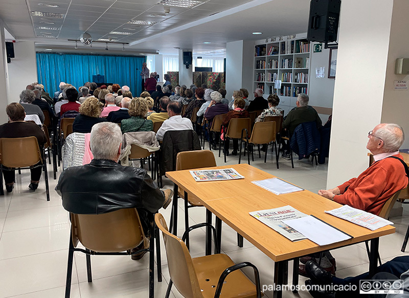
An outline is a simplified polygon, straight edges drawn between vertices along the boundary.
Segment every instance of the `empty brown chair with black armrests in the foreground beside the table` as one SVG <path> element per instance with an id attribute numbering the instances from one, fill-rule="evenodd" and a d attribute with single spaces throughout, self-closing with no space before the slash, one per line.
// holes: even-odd
<path id="1" fill-rule="evenodd" d="M 216 234 L 212 225 L 199 223 L 191 226 L 180 239 L 169 233 L 162 214 L 155 215 L 155 223 L 162 231 L 171 279 L 165 298 L 169 297 L 173 283 L 182 296 L 189 298 L 219 298 L 221 291 L 224 293 L 223 296 L 261 298 L 259 272 L 252 263 L 235 264 L 224 254 L 198 258 L 190 256 L 189 249 L 184 243 L 186 235 L 202 226 L 210 226 Z M 239 270 L 244 267 L 253 268 L 256 285 Z"/>

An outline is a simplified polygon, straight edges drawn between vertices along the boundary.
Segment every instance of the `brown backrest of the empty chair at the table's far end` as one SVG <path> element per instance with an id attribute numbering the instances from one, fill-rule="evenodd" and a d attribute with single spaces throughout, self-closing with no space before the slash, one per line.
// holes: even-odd
<path id="1" fill-rule="evenodd" d="M 210 150 L 183 151 L 176 155 L 176 171 L 216 166 L 216 159 Z"/>

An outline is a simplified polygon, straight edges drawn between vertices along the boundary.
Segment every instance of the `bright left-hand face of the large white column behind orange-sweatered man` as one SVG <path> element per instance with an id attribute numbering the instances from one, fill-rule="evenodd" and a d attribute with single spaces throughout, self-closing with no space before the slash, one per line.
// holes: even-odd
<path id="1" fill-rule="evenodd" d="M 393 0 L 342 3 L 327 188 L 368 167 L 368 131 L 381 121 L 392 6 Z"/>

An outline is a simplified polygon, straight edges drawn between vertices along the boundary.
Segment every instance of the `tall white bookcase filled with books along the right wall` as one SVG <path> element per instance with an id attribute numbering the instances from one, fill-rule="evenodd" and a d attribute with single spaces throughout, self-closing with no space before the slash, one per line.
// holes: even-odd
<path id="1" fill-rule="evenodd" d="M 268 96 L 277 93 L 280 107 L 286 114 L 296 106 L 298 93 L 308 94 L 311 43 L 307 34 L 276 36 L 256 41 L 254 57 L 254 89 L 262 88 Z"/>

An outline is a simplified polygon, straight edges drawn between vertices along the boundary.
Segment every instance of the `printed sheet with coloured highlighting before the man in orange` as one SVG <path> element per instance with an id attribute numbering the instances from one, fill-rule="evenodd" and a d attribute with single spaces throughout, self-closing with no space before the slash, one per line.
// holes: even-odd
<path id="1" fill-rule="evenodd" d="M 375 231 L 378 228 L 388 224 L 393 224 L 392 221 L 386 220 L 369 212 L 352 208 L 349 205 L 344 205 L 343 207 L 339 207 L 334 210 L 325 211 L 325 213 L 348 220 L 360 226 L 365 226 L 371 231 Z"/>

